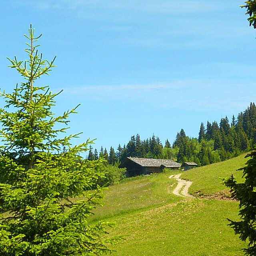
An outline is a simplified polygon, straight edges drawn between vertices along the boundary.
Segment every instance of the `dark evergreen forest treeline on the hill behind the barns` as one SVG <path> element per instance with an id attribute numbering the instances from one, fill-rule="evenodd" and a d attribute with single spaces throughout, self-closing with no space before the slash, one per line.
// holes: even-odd
<path id="1" fill-rule="evenodd" d="M 240 155 L 256 144 L 256 106 L 250 106 L 240 112 L 237 118 L 232 116 L 231 122 L 221 118 L 220 123 L 202 122 L 198 138 L 186 136 L 183 129 L 177 133 L 174 143 L 171 145 L 167 139 L 164 143 L 153 134 L 152 137 L 141 140 L 140 135 L 132 136 L 127 144 L 114 150 L 110 147 L 101 147 L 100 152 L 90 146 L 88 160 L 105 156 L 109 164 L 122 162 L 127 156 L 142 158 L 172 159 L 178 162 L 196 162 L 203 166 Z"/>

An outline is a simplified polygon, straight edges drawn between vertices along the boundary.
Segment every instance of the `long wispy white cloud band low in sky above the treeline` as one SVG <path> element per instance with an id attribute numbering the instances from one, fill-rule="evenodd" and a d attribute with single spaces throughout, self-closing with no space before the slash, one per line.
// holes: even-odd
<path id="1" fill-rule="evenodd" d="M 230 90 L 232 85 L 232 90 Z M 156 108 L 226 108 L 244 107 L 253 101 L 256 83 L 244 80 L 205 79 L 176 80 L 170 83 L 130 84 L 115 86 L 76 86 L 64 88 L 64 97 L 86 98 L 101 102 L 143 102 Z M 244 96 L 241 95 L 244 92 Z"/>

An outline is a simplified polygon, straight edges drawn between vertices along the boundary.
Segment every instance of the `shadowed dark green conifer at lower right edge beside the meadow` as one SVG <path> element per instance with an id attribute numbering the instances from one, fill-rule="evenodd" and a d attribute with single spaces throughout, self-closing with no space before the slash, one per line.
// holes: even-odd
<path id="1" fill-rule="evenodd" d="M 230 188 L 232 198 L 240 202 L 239 215 L 241 221 L 230 221 L 229 226 L 239 234 L 243 241 L 248 240 L 248 248 L 244 249 L 246 255 L 256 255 L 256 148 L 247 154 L 250 159 L 246 162 L 243 171 L 244 183 L 237 183 L 234 176 L 225 179 L 225 185 Z"/>

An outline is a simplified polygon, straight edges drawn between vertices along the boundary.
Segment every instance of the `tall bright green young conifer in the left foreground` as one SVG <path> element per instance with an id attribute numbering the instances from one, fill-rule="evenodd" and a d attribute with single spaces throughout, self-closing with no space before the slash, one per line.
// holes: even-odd
<path id="1" fill-rule="evenodd" d="M 54 116 L 58 93 L 36 86 L 55 60 L 38 53 L 34 43 L 40 36 L 30 25 L 28 60 L 9 59 L 25 81 L 12 93 L 0 93 L 6 101 L 0 110 L 0 255 L 102 255 L 114 239 L 102 239 L 106 223 L 91 226 L 86 218 L 102 197 L 100 187 L 90 188 L 104 178 L 97 171 L 103 160 L 83 160 L 79 154 L 92 141 L 72 146 L 70 139 L 78 134 L 60 138 L 67 128 L 54 128 L 67 124 L 76 108 Z M 78 196 L 84 199 L 76 201 Z"/>

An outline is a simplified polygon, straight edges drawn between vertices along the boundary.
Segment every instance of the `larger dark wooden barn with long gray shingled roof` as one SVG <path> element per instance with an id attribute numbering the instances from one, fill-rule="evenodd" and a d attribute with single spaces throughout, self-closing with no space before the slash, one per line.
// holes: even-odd
<path id="1" fill-rule="evenodd" d="M 126 168 L 127 177 L 133 177 L 162 172 L 164 168 L 177 170 L 180 168 L 180 164 L 169 159 L 127 157 L 119 167 Z"/>

